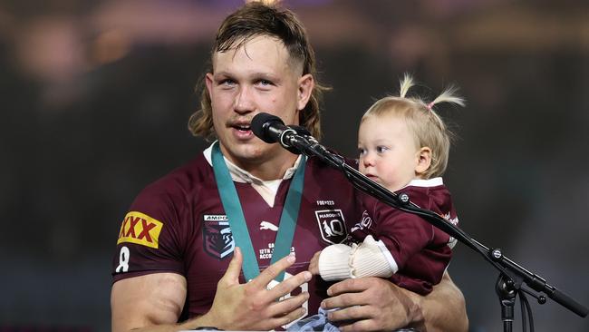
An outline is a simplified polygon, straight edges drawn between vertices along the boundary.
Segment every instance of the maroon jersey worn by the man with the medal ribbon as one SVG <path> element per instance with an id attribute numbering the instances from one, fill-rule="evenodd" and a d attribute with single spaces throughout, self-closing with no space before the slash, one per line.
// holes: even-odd
<path id="1" fill-rule="evenodd" d="M 274 207 L 250 184 L 234 183 L 258 265 L 266 269 L 291 180 L 280 183 Z M 303 191 L 291 248 L 296 263 L 285 278 L 306 270 L 316 251 L 346 239 L 347 229 L 361 216 L 343 174 L 315 158 L 307 161 Z M 180 319 L 195 317 L 211 307 L 234 247 L 213 169 L 201 154 L 140 192 L 122 221 L 112 274 L 114 281 L 157 272 L 186 277 L 188 293 Z M 243 274 L 240 278 L 245 282 Z M 313 278 L 292 295 L 308 291 L 305 306 L 315 313 L 326 298 L 326 287 L 321 278 Z"/>

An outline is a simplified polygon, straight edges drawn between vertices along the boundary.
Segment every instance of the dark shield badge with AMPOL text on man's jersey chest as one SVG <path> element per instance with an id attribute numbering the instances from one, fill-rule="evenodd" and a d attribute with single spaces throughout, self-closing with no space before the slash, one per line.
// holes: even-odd
<path id="1" fill-rule="evenodd" d="M 205 214 L 202 239 L 205 252 L 216 259 L 224 259 L 236 246 L 226 215 Z"/>

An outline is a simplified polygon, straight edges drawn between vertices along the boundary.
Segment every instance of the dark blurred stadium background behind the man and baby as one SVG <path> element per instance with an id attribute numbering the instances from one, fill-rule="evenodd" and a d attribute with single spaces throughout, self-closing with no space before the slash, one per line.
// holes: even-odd
<path id="1" fill-rule="evenodd" d="M 207 146 L 187 130 L 194 88 L 218 24 L 242 4 L 0 2 L 0 330 L 110 330 L 121 220 L 145 185 Z M 439 112 L 459 136 L 445 181 L 460 227 L 589 305 L 587 1 L 284 5 L 333 86 L 324 145 L 355 156 L 362 113 L 404 72 L 430 98 L 458 85 L 468 106 Z M 501 330 L 497 271 L 465 246 L 449 271 L 470 330 Z M 536 331 L 589 330 L 531 300 Z"/>

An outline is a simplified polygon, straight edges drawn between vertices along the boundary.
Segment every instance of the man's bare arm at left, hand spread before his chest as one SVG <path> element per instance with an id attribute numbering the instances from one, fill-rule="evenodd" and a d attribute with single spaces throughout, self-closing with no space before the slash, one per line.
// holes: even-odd
<path id="1" fill-rule="evenodd" d="M 112 331 L 177 331 L 195 327 L 217 327 L 234 330 L 269 330 L 286 325 L 304 315 L 302 308 L 309 294 L 304 292 L 283 301 L 275 301 L 289 294 L 311 278 L 303 271 L 285 279 L 272 289 L 268 283 L 294 263 L 285 257 L 271 265 L 257 278 L 239 283 L 243 258 L 236 248 L 234 257 L 223 278 L 208 313 L 182 324 L 176 322 L 187 295 L 186 279 L 174 273 L 155 273 L 122 279 L 112 285 Z"/>

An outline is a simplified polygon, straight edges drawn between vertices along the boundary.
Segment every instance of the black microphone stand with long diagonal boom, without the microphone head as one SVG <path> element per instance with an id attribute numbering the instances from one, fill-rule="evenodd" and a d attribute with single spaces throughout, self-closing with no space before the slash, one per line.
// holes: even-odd
<path id="1" fill-rule="evenodd" d="M 382 187 L 377 182 L 370 180 L 360 171 L 357 171 L 352 166 L 346 164 L 343 157 L 327 151 L 312 136 L 302 136 L 298 134 L 288 136 L 287 140 L 283 140 L 283 137 L 281 137 L 280 141 L 283 146 L 294 147 L 297 151 L 304 153 L 306 156 L 319 158 L 333 168 L 342 171 L 348 181 L 352 182 L 352 185 L 358 190 L 366 192 L 374 198 L 381 200 L 383 203 L 390 205 L 392 208 L 420 216 L 436 228 L 443 230 L 449 234 L 449 236 L 458 239 L 468 248 L 473 249 L 482 255 L 489 264 L 499 271 L 496 292 L 501 305 L 501 320 L 503 321 L 504 331 L 511 332 L 512 330 L 514 306 L 517 294 L 520 294 L 521 300 L 527 305 L 528 314 L 530 314 L 530 322 L 532 322 L 531 310 L 529 304 L 527 304 L 527 299 L 522 292 L 536 298 L 539 304 L 546 303 L 545 296 L 536 295 L 530 290 L 522 288 L 522 283 L 525 283 L 527 287 L 534 289 L 536 292 L 545 293 L 548 298 L 552 298 L 556 303 L 573 311 L 580 317 L 587 316 L 588 309 L 586 307 L 554 286 L 549 285 L 545 278 L 541 278 L 535 273 L 524 269 L 511 259 L 507 259 L 507 257 L 503 255 L 501 249 L 489 249 L 476 239 L 470 238 L 464 230 L 454 226 L 444 218 L 440 217 L 437 213 L 430 210 L 420 209 L 410 201 L 410 197 L 406 193 L 396 194 Z M 526 316 L 523 308 L 522 317 L 524 317 L 525 321 Z"/>

